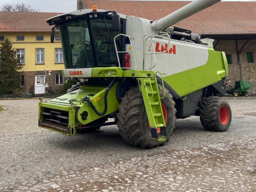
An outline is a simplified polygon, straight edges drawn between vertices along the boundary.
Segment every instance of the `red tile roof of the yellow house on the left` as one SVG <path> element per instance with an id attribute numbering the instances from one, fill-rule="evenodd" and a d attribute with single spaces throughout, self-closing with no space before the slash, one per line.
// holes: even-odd
<path id="1" fill-rule="evenodd" d="M 46 19 L 61 13 L 0 12 L 0 32 L 48 32 Z"/>

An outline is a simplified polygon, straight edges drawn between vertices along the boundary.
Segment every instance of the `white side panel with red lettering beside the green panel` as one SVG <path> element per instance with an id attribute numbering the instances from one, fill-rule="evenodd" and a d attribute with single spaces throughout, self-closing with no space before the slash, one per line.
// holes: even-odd
<path id="1" fill-rule="evenodd" d="M 152 70 L 161 71 L 164 76 L 196 68 L 207 63 L 208 49 L 205 46 L 170 41 L 168 53 L 158 53 L 166 50 L 168 40 L 152 38 L 152 43 L 156 53 L 156 67 Z M 147 40 L 146 53 L 150 53 L 149 45 L 150 39 Z M 152 66 L 154 66 L 154 56 L 152 61 Z M 150 68 L 150 55 L 146 56 L 144 64 L 144 69 L 148 68 Z"/>

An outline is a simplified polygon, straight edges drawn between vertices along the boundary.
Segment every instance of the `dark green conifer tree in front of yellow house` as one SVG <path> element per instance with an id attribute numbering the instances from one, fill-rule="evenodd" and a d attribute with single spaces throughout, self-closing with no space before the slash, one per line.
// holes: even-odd
<path id="1" fill-rule="evenodd" d="M 10 94 L 20 87 L 20 69 L 20 59 L 16 59 L 16 51 L 5 37 L 0 42 L 0 94 Z"/>

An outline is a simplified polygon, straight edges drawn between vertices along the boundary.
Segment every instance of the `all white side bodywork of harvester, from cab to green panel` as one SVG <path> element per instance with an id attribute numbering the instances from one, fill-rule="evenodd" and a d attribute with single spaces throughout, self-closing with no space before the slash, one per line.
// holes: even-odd
<path id="1" fill-rule="evenodd" d="M 137 70 L 148 70 L 151 66 L 154 66 L 154 56 L 152 65 L 150 65 L 150 55 L 146 55 L 144 60 L 145 53 L 150 53 L 150 38 L 148 38 L 145 45 L 146 47 L 144 48 L 145 39 L 152 36 L 151 23 L 149 20 L 133 16 L 127 17 L 126 32 L 132 39 Z M 154 44 L 156 52 L 156 67 L 152 70 L 161 71 L 164 76 L 196 68 L 207 63 L 208 46 L 206 45 L 171 39 L 168 53 L 157 53 L 166 51 L 168 39 L 153 37 L 152 43 Z M 129 51 L 129 45 L 130 44 L 126 44 L 127 51 Z M 130 62 L 131 67 L 134 67 L 132 58 L 130 59 Z"/>

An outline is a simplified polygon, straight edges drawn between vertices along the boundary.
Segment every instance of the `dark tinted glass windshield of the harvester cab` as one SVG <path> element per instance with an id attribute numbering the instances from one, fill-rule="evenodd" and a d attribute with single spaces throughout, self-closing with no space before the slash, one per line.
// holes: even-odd
<path id="1" fill-rule="evenodd" d="M 111 20 L 76 20 L 59 26 L 65 68 L 116 66 Z"/>

